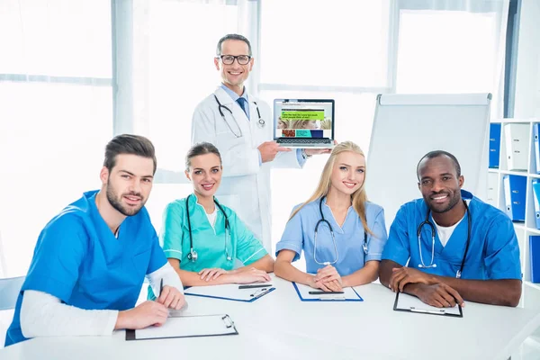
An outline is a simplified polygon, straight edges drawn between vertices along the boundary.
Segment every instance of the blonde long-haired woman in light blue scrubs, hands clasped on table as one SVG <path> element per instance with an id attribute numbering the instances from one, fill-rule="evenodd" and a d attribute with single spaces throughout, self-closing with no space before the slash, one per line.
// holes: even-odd
<path id="1" fill-rule="evenodd" d="M 351 141 L 338 144 L 307 202 L 293 209 L 276 245 L 275 275 L 325 292 L 377 279 L 388 238 L 383 208 L 367 201 L 365 156 Z M 292 265 L 304 252 L 304 273 Z"/>

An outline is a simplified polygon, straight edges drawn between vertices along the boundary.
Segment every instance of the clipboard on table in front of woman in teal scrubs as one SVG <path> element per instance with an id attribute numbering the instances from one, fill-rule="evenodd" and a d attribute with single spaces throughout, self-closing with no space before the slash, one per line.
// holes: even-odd
<path id="1" fill-rule="evenodd" d="M 184 295 L 229 300 L 233 302 L 255 302 L 267 293 L 275 291 L 275 287 L 238 289 L 238 286 L 238 284 L 191 286 L 184 289 Z"/>

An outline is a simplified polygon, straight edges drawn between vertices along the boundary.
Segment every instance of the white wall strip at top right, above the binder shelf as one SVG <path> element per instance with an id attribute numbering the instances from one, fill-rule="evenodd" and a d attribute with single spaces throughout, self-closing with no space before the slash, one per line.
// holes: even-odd
<path id="1" fill-rule="evenodd" d="M 540 117 L 540 1 L 522 0 L 515 118 Z"/>

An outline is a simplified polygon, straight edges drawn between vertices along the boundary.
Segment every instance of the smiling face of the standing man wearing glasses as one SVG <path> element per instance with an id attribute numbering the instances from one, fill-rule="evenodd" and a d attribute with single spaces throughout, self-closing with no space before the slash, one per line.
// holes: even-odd
<path id="1" fill-rule="evenodd" d="M 225 40 L 221 44 L 220 55 L 249 55 L 247 43 L 242 40 Z M 232 64 L 225 65 L 220 58 L 214 58 L 214 65 L 220 71 L 223 84 L 229 88 L 243 88 L 244 82 L 249 76 L 249 72 L 253 67 L 253 58 L 246 65 L 238 64 L 238 59 L 235 59 Z"/>

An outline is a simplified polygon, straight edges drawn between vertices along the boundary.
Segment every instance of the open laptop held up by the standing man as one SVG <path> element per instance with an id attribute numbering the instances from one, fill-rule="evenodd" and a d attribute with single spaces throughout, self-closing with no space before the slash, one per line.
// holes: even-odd
<path id="1" fill-rule="evenodd" d="M 274 100 L 274 140 L 280 146 L 334 148 L 334 139 L 334 100 Z"/>

